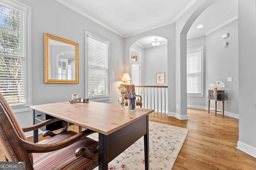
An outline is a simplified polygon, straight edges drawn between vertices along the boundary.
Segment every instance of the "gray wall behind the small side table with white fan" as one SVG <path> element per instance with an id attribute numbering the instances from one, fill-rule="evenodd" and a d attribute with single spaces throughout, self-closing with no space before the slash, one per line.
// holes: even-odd
<path id="1" fill-rule="evenodd" d="M 229 33 L 229 38 L 222 39 L 222 35 Z M 227 47 L 222 43 L 228 42 Z M 206 35 L 206 57 L 205 57 L 205 86 L 206 94 L 211 82 L 220 80 L 225 84 L 225 114 L 238 118 L 238 20 L 217 29 Z M 228 82 L 228 77 L 232 77 L 232 82 Z M 207 99 L 207 97 L 206 97 Z M 210 102 L 214 108 L 214 102 Z M 208 100 L 205 105 L 208 107 Z M 222 104 L 217 106 L 222 110 Z"/>

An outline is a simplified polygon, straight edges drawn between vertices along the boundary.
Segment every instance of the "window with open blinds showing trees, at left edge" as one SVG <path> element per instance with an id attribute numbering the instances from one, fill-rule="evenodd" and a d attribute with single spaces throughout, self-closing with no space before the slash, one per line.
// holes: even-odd
<path id="1" fill-rule="evenodd" d="M 28 6 L 10 0 L 0 3 L 0 93 L 11 107 L 29 105 L 30 100 L 30 76 L 26 74 L 30 65 L 25 50 L 26 41 L 29 42 L 25 37 L 29 13 Z"/>

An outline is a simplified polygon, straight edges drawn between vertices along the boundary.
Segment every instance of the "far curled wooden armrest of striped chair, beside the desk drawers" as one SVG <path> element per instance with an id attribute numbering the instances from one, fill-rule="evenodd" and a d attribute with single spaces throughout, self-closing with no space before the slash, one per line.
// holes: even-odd
<path id="1" fill-rule="evenodd" d="M 51 118 L 51 119 L 47 119 L 46 121 L 43 121 L 41 123 L 38 123 L 36 125 L 32 125 L 32 126 L 29 126 L 29 127 L 23 127 L 22 130 L 24 132 L 28 132 L 28 131 L 34 131 L 36 129 L 39 129 L 40 127 L 44 127 L 45 125 L 49 125 L 53 122 L 56 122 L 56 121 L 63 121 L 64 122 L 64 128 L 63 130 L 61 131 L 61 133 L 63 133 L 64 131 L 67 131 L 68 130 L 68 122 L 67 121 L 64 121 L 64 120 L 61 120 L 61 119 L 58 119 L 58 118 Z"/>

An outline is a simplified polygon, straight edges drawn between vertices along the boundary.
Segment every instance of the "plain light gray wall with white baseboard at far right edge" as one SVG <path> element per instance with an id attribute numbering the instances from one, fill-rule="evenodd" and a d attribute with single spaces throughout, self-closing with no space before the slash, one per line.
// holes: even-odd
<path id="1" fill-rule="evenodd" d="M 256 1 L 238 0 L 239 141 L 256 157 Z"/>

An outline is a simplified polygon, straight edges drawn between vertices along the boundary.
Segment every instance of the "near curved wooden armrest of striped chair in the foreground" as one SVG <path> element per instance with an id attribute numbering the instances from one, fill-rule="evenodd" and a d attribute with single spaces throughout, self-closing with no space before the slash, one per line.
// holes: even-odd
<path id="1" fill-rule="evenodd" d="M 76 135 L 73 135 L 72 137 L 69 137 L 67 139 L 64 139 L 62 141 L 59 141 L 57 143 L 52 144 L 37 144 L 28 142 L 25 140 L 22 140 L 22 145 L 25 147 L 26 150 L 28 150 L 29 153 L 44 153 L 44 152 L 51 152 L 54 150 L 62 149 L 64 147 L 67 147 L 71 145 L 72 143 L 75 143 L 76 141 L 79 141 L 85 136 L 88 136 L 92 133 L 95 133 L 95 131 L 92 131 L 90 129 L 86 129 Z"/>

